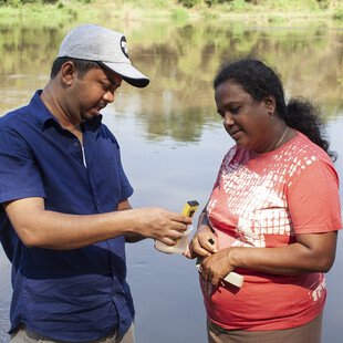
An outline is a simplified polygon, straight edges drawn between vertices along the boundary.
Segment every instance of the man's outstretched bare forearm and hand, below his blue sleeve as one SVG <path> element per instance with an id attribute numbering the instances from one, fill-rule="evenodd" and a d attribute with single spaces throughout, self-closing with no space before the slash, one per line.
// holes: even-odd
<path id="1" fill-rule="evenodd" d="M 18 236 L 28 247 L 70 250 L 122 235 L 141 235 L 173 245 L 189 219 L 159 208 L 128 209 L 100 215 L 67 215 L 44 209 L 41 198 L 4 206 Z"/>

